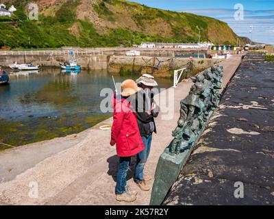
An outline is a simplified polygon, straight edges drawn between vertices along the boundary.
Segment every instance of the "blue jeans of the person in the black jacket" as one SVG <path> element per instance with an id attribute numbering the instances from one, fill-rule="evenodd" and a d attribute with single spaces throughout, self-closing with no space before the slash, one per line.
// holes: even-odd
<path id="1" fill-rule="evenodd" d="M 138 153 L 137 162 L 136 162 L 136 170 L 135 170 L 135 179 L 136 183 L 140 183 L 144 180 L 144 168 L 147 163 L 147 159 L 149 158 L 150 148 L 151 148 L 152 134 L 147 136 L 142 136 L 142 142 L 145 145 L 145 149 Z"/>

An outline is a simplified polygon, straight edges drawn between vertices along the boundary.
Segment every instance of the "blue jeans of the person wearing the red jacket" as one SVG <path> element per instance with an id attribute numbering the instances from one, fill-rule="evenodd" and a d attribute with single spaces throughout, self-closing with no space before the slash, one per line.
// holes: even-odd
<path id="1" fill-rule="evenodd" d="M 132 157 L 120 157 L 119 170 L 116 179 L 116 194 L 123 194 L 125 192 L 125 186 L 127 185 L 127 171 L 129 170 L 130 161 Z"/>

